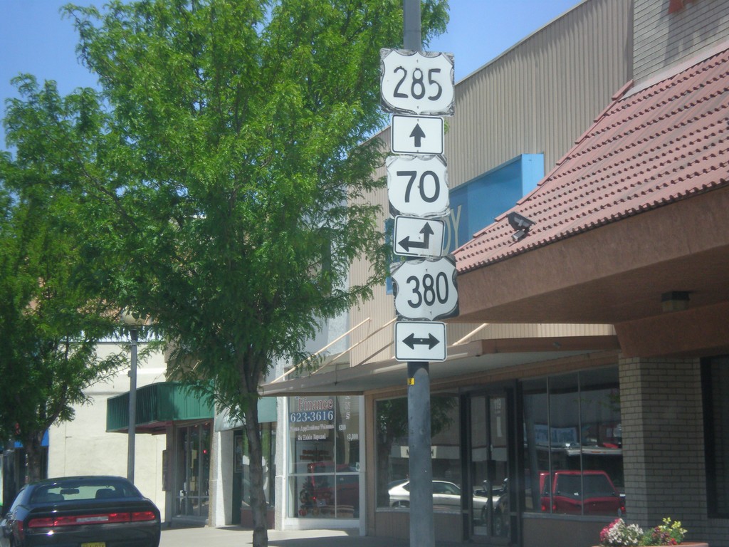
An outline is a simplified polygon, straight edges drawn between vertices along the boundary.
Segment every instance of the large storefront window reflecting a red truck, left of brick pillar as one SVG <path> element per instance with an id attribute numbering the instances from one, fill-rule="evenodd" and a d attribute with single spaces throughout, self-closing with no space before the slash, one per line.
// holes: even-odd
<path id="1" fill-rule="evenodd" d="M 522 396 L 526 511 L 622 514 L 617 368 L 524 381 Z"/>

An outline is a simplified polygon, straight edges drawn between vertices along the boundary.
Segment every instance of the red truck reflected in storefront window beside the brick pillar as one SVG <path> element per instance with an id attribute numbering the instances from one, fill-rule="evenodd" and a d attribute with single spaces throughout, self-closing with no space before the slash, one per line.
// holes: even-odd
<path id="1" fill-rule="evenodd" d="M 539 473 L 542 511 L 568 515 L 621 515 L 625 498 L 600 470 Z M 552 495 L 550 495 L 552 494 Z"/>

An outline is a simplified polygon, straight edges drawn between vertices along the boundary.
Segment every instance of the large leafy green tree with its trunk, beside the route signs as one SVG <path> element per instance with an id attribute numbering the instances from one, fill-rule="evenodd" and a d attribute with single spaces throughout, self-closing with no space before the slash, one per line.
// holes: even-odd
<path id="1" fill-rule="evenodd" d="M 423 34 L 447 2 L 422 4 Z M 258 388 L 386 272 L 370 192 L 379 49 L 395 0 L 167 0 L 66 8 L 109 113 L 87 173 L 90 261 L 109 298 L 154 317 L 169 364 L 246 424 L 254 545 L 268 544 Z M 120 261 L 120 257 L 123 260 Z M 348 284 L 351 262 L 373 264 Z"/>

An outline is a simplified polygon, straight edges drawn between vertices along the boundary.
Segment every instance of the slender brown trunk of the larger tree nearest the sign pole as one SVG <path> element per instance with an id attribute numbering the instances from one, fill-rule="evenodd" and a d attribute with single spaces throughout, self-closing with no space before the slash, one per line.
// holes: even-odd
<path id="1" fill-rule="evenodd" d="M 268 505 L 263 491 L 263 451 L 258 424 L 257 397 L 246 401 L 246 436 L 250 451 L 251 513 L 253 516 L 253 547 L 268 547 Z"/>

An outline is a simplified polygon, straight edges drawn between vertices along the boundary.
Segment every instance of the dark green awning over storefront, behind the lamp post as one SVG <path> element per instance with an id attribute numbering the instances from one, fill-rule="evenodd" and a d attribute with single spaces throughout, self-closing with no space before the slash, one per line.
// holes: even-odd
<path id="1" fill-rule="evenodd" d="M 214 407 L 182 382 L 165 381 L 136 390 L 136 432 L 163 433 L 176 422 L 210 420 Z M 106 431 L 128 432 L 129 392 L 106 400 Z"/>

